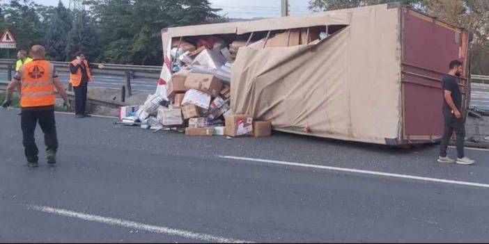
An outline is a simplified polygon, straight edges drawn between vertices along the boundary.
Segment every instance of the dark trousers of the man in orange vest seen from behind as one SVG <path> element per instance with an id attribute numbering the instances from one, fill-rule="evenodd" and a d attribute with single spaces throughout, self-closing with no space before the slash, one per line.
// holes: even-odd
<path id="1" fill-rule="evenodd" d="M 22 127 L 22 143 L 24 144 L 24 154 L 29 163 L 37 163 L 38 161 L 38 146 L 34 139 L 34 131 L 36 125 L 39 126 L 44 133 L 44 143 L 46 150 L 58 150 L 58 138 L 56 136 L 56 121 L 54 120 L 54 107 L 42 109 L 22 109 L 20 124 Z"/>

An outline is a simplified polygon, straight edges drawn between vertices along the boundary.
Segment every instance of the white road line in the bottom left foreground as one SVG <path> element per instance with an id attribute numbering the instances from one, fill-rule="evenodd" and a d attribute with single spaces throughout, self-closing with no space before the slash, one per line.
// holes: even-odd
<path id="1" fill-rule="evenodd" d="M 79 212 L 70 211 L 67 209 L 56 209 L 56 208 L 52 208 L 49 206 L 28 205 L 27 208 L 34 210 L 34 211 L 40 211 L 43 213 L 53 213 L 53 214 L 65 216 L 68 218 L 78 218 L 80 220 L 87 220 L 87 221 L 91 221 L 91 222 L 100 222 L 100 223 L 107 224 L 107 225 L 116 225 L 116 226 L 126 227 L 126 228 L 130 228 L 130 229 L 150 231 L 150 232 L 158 233 L 158 234 L 167 234 L 170 236 L 181 236 L 184 238 L 191 238 L 191 239 L 199 240 L 199 241 L 208 241 L 208 242 L 215 242 L 215 243 L 252 243 L 249 241 L 242 241 L 242 240 L 237 240 L 237 239 L 233 239 L 233 238 L 225 238 L 225 237 L 221 237 L 221 236 L 212 236 L 209 234 L 201 234 L 201 233 L 196 233 L 193 231 L 186 231 L 183 229 L 173 229 L 173 228 L 164 227 L 164 226 L 157 226 L 157 225 L 146 225 L 146 224 L 142 224 L 139 222 L 133 222 L 133 221 L 129 221 L 129 220 L 121 220 L 118 218 L 109 218 L 109 217 L 103 217 L 103 216 L 99 216 L 99 215 L 79 213 Z"/>

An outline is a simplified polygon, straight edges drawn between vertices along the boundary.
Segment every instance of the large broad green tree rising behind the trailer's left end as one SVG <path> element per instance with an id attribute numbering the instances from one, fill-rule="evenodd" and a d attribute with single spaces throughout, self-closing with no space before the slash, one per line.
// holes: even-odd
<path id="1" fill-rule="evenodd" d="M 87 3 L 100 33 L 103 33 L 100 43 L 105 48 L 99 60 L 109 63 L 162 65 L 161 29 L 205 24 L 218 17 L 207 0 L 99 0 Z"/>

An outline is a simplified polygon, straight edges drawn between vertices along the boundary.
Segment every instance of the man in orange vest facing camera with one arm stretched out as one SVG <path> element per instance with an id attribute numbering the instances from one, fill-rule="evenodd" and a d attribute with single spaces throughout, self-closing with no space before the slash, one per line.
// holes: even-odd
<path id="1" fill-rule="evenodd" d="M 85 109 L 88 82 L 93 81 L 91 69 L 103 69 L 104 65 L 91 65 L 81 51 L 78 51 L 76 56 L 77 58 L 70 63 L 70 83 L 75 90 L 75 117 L 90 117 Z"/>

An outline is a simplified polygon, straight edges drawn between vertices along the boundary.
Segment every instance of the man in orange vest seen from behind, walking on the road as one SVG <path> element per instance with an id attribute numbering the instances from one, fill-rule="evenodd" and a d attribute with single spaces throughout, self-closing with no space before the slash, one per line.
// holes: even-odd
<path id="1" fill-rule="evenodd" d="M 63 106 L 68 107 L 68 96 L 65 88 L 59 81 L 54 65 L 45 60 L 45 48 L 36 45 L 30 51 L 33 60 L 25 63 L 15 74 L 7 88 L 7 97 L 3 102 L 3 108 L 12 104 L 12 95 L 20 84 L 22 111 L 20 124 L 22 127 L 22 143 L 24 154 L 29 167 L 38 166 L 38 147 L 34 140 L 36 124 L 39 123 L 44 133 L 44 141 L 47 147 L 47 163 L 56 163 L 56 151 L 58 150 L 58 138 L 56 136 L 56 122 L 54 120 L 54 88 L 65 101 Z"/>

